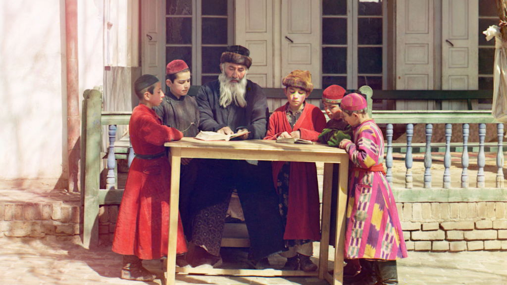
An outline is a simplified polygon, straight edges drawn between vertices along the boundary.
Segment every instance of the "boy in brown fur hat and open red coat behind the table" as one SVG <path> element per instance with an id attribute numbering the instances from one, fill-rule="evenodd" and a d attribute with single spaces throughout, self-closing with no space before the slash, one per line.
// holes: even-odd
<path id="1" fill-rule="evenodd" d="M 264 139 L 277 137 L 302 138 L 318 141 L 318 135 L 326 127 L 320 109 L 306 103 L 313 90 L 308 70 L 294 70 L 282 84 L 288 102 L 276 109 L 269 118 Z M 284 270 L 315 271 L 310 260 L 313 241 L 320 240 L 320 213 L 317 185 L 317 168 L 313 162 L 273 162 L 273 181 L 279 197 L 280 215 L 285 223 L 283 239 L 288 252 Z"/>

